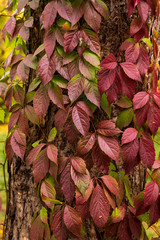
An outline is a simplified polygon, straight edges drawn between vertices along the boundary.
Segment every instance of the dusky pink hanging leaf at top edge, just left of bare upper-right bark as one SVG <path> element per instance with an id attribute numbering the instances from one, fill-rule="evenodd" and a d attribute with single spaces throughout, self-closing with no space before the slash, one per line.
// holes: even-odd
<path id="1" fill-rule="evenodd" d="M 98 32 L 101 23 L 101 16 L 94 10 L 89 2 L 86 2 L 84 20 L 95 31 Z"/>

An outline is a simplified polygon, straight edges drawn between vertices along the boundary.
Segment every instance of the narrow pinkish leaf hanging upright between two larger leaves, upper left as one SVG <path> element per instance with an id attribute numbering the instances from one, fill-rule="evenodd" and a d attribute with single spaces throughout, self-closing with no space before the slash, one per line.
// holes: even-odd
<path id="1" fill-rule="evenodd" d="M 44 48 L 48 59 L 51 57 L 56 44 L 55 31 L 49 30 L 44 37 Z"/>

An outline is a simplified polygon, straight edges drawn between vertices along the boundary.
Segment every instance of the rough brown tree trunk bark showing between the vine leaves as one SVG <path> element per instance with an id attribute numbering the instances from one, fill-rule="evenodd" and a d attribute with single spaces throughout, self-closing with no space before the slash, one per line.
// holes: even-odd
<path id="1" fill-rule="evenodd" d="M 109 53 L 113 53 L 120 58 L 119 47 L 122 41 L 129 36 L 130 22 L 126 11 L 126 0 L 105 0 L 105 2 L 109 8 L 109 19 L 108 21 L 102 20 L 99 31 L 101 58 L 103 59 L 104 56 Z M 41 1 L 40 7 L 36 11 L 32 11 L 34 27 L 31 29 L 30 40 L 28 43 L 29 53 L 33 53 L 37 47 L 42 44 L 44 33 L 40 30 L 39 19 L 46 3 L 46 1 Z M 34 77 L 35 72 L 31 70 L 28 85 Z M 51 103 L 43 126 L 43 131 L 46 134 L 48 134 L 52 127 L 54 127 L 56 110 L 56 107 Z M 119 110 L 113 106 L 112 120 L 116 121 L 118 112 Z M 95 115 L 95 121 L 99 122 L 100 120 L 106 119 L 106 115 L 99 110 L 95 112 Z M 31 124 L 25 156 L 27 156 L 31 150 L 32 143 L 40 139 L 40 137 L 40 130 Z M 59 156 L 69 157 L 73 155 L 74 146 L 67 141 L 64 132 L 60 132 L 57 135 L 54 144 L 58 147 Z M 118 166 L 118 168 L 120 170 L 123 169 L 123 161 L 122 165 Z M 90 171 L 91 176 L 95 174 L 95 171 L 97 170 L 93 167 Z M 32 175 L 32 168 L 26 166 L 25 160 L 22 162 L 20 158 L 14 156 L 11 165 L 8 166 L 8 172 L 9 195 L 5 240 L 29 240 L 29 230 L 32 217 L 36 211 L 39 211 L 41 206 L 41 203 L 37 198 L 37 189 Z M 143 187 L 140 186 L 140 179 L 141 185 L 143 185 L 143 170 L 135 168 L 133 173 L 130 174 L 134 194 L 137 194 Z M 104 233 L 102 234 L 98 232 L 90 218 L 85 221 L 85 229 L 85 240 L 110 239 L 104 236 Z"/>

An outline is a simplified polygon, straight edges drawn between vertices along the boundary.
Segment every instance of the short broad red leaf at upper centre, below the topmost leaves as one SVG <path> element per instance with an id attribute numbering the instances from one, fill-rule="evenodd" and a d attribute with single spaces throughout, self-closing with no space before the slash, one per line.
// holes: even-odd
<path id="1" fill-rule="evenodd" d="M 64 34 L 64 51 L 66 53 L 72 52 L 79 43 L 77 31 L 66 32 Z"/>

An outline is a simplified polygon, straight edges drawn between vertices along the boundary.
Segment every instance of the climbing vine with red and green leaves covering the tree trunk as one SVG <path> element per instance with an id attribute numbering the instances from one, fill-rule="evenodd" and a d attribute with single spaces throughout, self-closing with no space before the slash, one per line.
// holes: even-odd
<path id="1" fill-rule="evenodd" d="M 4 65 L 9 73 L 7 82 L 0 82 L 0 92 L 11 112 L 8 162 L 12 164 L 15 154 L 33 165 L 43 205 L 34 216 L 31 240 L 83 239 L 89 216 L 107 237 L 148 239 L 145 223 L 160 218 L 160 162 L 153 140 L 160 126 L 158 32 L 150 34 L 149 26 L 150 19 L 159 17 L 159 1 L 127 1 L 128 17 L 134 15 L 130 38 L 118 57 L 110 53 L 101 62 L 98 31 L 101 19 L 109 15 L 103 1 L 48 2 L 39 19 L 43 44 L 29 54 L 26 43 L 39 1 L 10 4 L 16 11 L 4 25 L 3 38 L 14 48 Z M 51 102 L 56 114 L 46 134 Z M 116 122 L 113 105 L 119 109 Z M 104 120 L 95 124 L 97 111 L 104 113 Z M 31 125 L 43 137 L 26 156 Z M 62 129 L 74 145 L 71 157 L 60 156 L 54 142 Z M 90 172 L 93 165 L 95 175 Z M 124 171 L 118 170 L 120 165 Z M 128 174 L 137 165 L 151 181 L 132 197 Z"/>

